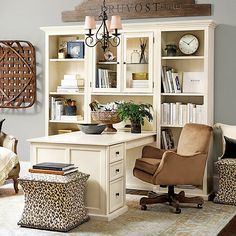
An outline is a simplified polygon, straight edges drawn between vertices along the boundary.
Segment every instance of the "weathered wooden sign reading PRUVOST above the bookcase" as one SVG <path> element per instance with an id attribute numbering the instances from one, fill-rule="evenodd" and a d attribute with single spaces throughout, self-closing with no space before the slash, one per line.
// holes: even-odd
<path id="1" fill-rule="evenodd" d="M 84 21 L 87 15 L 98 17 L 102 2 L 83 1 L 74 11 L 62 12 L 62 20 L 76 22 Z M 109 16 L 120 15 L 122 19 L 211 15 L 211 4 L 196 4 L 195 0 L 107 0 L 106 6 Z"/>

